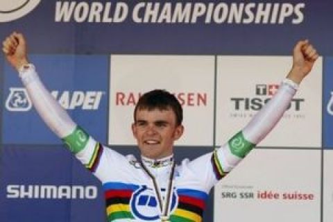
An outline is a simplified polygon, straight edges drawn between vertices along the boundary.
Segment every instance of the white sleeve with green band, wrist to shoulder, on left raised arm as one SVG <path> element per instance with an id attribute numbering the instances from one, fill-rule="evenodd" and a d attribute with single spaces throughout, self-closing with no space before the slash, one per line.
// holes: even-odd
<path id="1" fill-rule="evenodd" d="M 109 175 L 117 176 L 121 173 L 123 169 L 119 166 L 126 163 L 126 158 L 96 142 L 83 128 L 77 126 L 44 87 L 33 65 L 23 67 L 19 71 L 19 76 L 40 117 L 89 171 L 92 171 L 102 182 L 110 177 Z"/>

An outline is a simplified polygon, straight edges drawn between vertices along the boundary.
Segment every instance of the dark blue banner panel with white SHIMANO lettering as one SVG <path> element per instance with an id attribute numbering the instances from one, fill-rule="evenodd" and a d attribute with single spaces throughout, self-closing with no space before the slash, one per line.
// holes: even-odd
<path id="1" fill-rule="evenodd" d="M 1 221 L 104 221 L 100 182 L 65 148 L 5 146 L 2 154 Z"/>

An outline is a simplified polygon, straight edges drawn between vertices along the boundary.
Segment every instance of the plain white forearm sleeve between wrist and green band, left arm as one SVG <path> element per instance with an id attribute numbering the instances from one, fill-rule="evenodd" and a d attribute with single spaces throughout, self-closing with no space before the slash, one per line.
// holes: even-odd
<path id="1" fill-rule="evenodd" d="M 60 138 L 70 135 L 76 128 L 76 123 L 44 87 L 35 68 L 31 65 L 27 68 L 22 67 L 19 70 L 19 76 L 35 109 L 46 125 Z"/>

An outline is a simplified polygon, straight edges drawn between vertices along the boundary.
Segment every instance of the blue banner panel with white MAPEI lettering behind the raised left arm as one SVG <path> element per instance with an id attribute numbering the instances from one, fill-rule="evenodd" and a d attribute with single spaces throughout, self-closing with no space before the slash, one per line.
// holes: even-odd
<path id="1" fill-rule="evenodd" d="M 106 142 L 108 56 L 33 55 L 46 88 L 88 133 Z M 17 73 L 4 69 L 4 144 L 60 144 L 37 114 Z"/>

